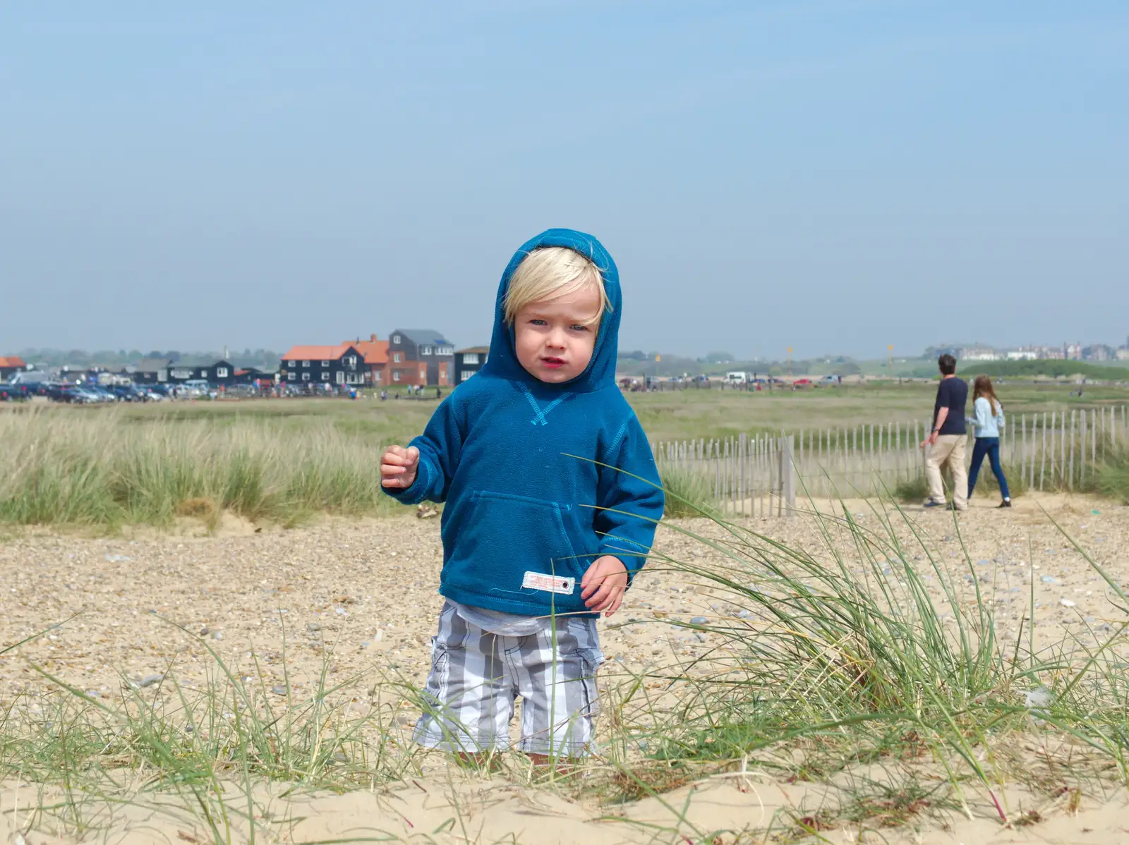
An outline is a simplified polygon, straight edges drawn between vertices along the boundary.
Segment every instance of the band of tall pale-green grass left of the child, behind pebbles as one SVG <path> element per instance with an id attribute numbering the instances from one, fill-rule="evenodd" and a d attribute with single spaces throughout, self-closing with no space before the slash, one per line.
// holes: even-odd
<path id="1" fill-rule="evenodd" d="M 178 516 L 295 525 L 380 513 L 383 443 L 326 423 L 139 423 L 121 412 L 0 414 L 0 522 L 168 526 Z"/>

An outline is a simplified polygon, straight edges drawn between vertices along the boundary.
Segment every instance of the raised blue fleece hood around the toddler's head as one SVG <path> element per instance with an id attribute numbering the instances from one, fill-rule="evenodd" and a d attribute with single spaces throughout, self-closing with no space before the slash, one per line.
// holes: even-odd
<path id="1" fill-rule="evenodd" d="M 504 307 L 506 291 L 509 290 L 509 280 L 517 270 L 517 265 L 534 249 L 546 246 L 563 246 L 575 249 L 599 267 L 601 275 L 604 278 L 604 289 L 607 291 L 607 299 L 612 305 L 612 310 L 604 311 L 599 320 L 596 345 L 587 369 L 576 378 L 559 385 L 551 385 L 534 378 L 522 367 L 514 351 L 514 328 L 506 325 Z M 490 357 L 482 369 L 495 376 L 520 381 L 525 385 L 540 385 L 549 390 L 585 393 L 614 385 L 615 360 L 619 354 L 620 315 L 622 313 L 623 297 L 620 293 L 620 272 L 615 269 L 615 262 L 604 249 L 603 244 L 590 235 L 575 229 L 548 229 L 522 244 L 520 248 L 514 253 L 514 257 L 509 259 L 509 264 L 506 265 L 506 272 L 501 274 L 498 298 L 495 302 L 495 326 L 490 337 Z"/>

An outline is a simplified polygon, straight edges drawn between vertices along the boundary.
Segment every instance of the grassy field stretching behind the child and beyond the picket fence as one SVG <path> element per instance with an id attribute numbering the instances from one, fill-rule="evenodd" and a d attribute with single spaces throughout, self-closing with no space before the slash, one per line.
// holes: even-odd
<path id="1" fill-rule="evenodd" d="M 1129 391 L 1005 386 L 1013 415 L 1120 405 Z M 654 441 L 924 421 L 928 384 L 805 390 L 629 394 Z M 259 399 L 116 407 L 42 403 L 0 411 L 0 521 L 169 526 L 224 511 L 297 525 L 315 513 L 396 509 L 379 488 L 383 448 L 406 443 L 431 401 Z"/>

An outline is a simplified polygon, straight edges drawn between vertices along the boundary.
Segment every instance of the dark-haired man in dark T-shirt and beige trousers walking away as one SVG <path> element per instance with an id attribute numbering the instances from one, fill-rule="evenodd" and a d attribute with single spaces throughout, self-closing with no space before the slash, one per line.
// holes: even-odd
<path id="1" fill-rule="evenodd" d="M 933 431 L 921 441 L 921 448 L 928 448 L 925 477 L 929 482 L 929 499 L 925 507 L 945 507 L 940 468 L 947 465 L 953 474 L 953 502 L 948 509 L 964 511 L 969 509 L 969 476 L 964 470 L 968 440 L 964 406 L 969 401 L 969 386 L 956 377 L 956 359 L 952 355 L 938 358 L 937 368 L 940 370 L 940 384 L 937 385 L 937 401 L 933 406 Z"/>

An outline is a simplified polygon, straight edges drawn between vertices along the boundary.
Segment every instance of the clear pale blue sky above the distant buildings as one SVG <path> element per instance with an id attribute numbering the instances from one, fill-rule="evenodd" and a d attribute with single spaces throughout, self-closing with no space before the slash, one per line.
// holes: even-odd
<path id="1" fill-rule="evenodd" d="M 0 6 L 0 354 L 481 343 L 550 226 L 621 349 L 1124 343 L 1129 3 Z"/>

